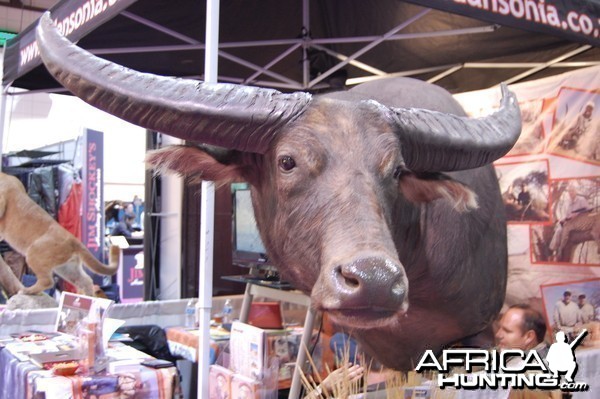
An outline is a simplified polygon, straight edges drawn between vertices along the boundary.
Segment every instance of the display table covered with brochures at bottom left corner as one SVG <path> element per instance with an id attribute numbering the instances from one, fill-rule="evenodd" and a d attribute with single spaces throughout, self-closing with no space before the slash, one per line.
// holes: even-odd
<path id="1" fill-rule="evenodd" d="M 0 348 L 0 397 L 30 398 L 172 398 L 179 387 L 176 367 L 154 369 L 139 363 L 150 356 L 122 343 L 111 343 L 107 369 L 98 373 L 54 375 L 28 360 L 27 351 Z M 109 370 L 111 372 L 109 372 Z"/>

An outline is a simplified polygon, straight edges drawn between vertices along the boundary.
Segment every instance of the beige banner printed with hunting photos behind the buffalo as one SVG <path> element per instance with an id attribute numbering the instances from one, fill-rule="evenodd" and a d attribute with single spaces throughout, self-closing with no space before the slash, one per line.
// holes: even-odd
<path id="1" fill-rule="evenodd" d="M 586 281 L 587 302 L 599 309 L 600 67 L 509 88 L 523 129 L 494 164 L 508 218 L 506 305 L 543 309 L 560 299 L 544 298 L 544 287 Z M 493 112 L 500 97 L 499 87 L 455 96 L 473 117 Z"/>

